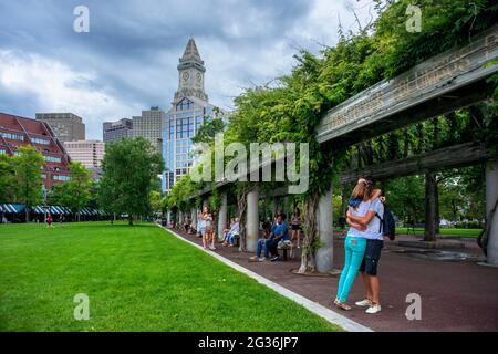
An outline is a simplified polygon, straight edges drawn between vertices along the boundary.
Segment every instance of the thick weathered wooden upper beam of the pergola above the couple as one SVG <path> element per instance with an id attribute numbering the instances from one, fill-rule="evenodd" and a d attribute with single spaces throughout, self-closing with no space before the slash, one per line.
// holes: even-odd
<path id="1" fill-rule="evenodd" d="M 498 72 L 498 25 L 463 46 L 384 80 L 330 110 L 318 140 L 338 147 L 378 136 L 486 100 Z"/>

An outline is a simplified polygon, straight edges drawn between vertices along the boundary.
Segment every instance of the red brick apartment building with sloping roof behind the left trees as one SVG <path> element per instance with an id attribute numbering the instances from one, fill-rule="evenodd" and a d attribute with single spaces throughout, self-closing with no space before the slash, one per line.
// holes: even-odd
<path id="1" fill-rule="evenodd" d="M 0 154 L 15 155 L 23 145 L 34 146 L 45 158 L 42 175 L 48 190 L 70 178 L 70 156 L 49 124 L 0 113 Z"/>

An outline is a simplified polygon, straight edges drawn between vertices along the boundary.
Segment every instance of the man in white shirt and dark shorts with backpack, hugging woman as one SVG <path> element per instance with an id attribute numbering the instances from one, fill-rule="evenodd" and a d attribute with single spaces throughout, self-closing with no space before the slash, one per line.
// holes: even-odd
<path id="1" fill-rule="evenodd" d="M 374 183 L 372 177 L 366 177 L 370 183 Z M 367 306 L 366 313 L 376 314 L 381 312 L 381 283 L 378 280 L 377 268 L 381 260 L 381 252 L 384 247 L 384 237 L 394 240 L 395 225 L 391 211 L 384 205 L 385 198 L 381 197 L 371 202 L 369 211 L 374 212 L 375 217 L 370 220 L 366 217 L 347 217 L 360 223 L 366 226 L 365 238 L 366 249 L 362 264 L 360 266 L 360 273 L 362 274 L 363 283 L 365 284 L 366 298 L 356 302 L 357 306 Z"/>

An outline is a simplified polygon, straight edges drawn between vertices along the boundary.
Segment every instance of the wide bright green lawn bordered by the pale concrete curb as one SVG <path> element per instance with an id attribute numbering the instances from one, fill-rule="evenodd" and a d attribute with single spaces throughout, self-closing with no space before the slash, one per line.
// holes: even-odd
<path id="1" fill-rule="evenodd" d="M 153 225 L 8 225 L 0 244 L 0 331 L 340 330 Z"/>

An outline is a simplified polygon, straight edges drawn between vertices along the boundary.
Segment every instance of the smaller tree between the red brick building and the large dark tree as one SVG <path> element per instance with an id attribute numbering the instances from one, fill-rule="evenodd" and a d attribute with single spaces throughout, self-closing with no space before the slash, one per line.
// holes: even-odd
<path id="1" fill-rule="evenodd" d="M 56 186 L 52 200 L 75 211 L 77 221 L 81 218 L 81 209 L 91 200 L 92 179 L 91 173 L 81 163 L 70 164 L 71 180 Z"/>

